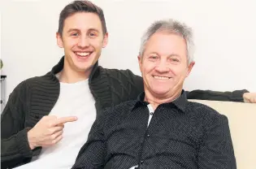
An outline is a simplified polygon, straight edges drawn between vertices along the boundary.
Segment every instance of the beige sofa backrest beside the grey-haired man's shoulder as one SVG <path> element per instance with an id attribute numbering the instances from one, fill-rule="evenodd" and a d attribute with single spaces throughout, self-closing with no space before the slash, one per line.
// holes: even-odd
<path id="1" fill-rule="evenodd" d="M 228 117 L 237 169 L 256 168 L 256 104 L 242 102 L 200 102 Z"/>

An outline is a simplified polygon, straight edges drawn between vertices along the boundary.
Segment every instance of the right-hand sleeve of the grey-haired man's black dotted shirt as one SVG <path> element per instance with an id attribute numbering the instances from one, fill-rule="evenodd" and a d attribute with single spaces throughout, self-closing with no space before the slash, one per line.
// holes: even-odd
<path id="1" fill-rule="evenodd" d="M 225 115 L 216 115 L 206 124 L 198 150 L 199 169 L 236 169 L 232 138 Z"/>

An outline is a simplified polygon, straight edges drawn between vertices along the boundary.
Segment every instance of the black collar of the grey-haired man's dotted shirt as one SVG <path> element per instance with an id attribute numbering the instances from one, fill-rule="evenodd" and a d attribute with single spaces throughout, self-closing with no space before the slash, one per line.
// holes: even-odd
<path id="1" fill-rule="evenodd" d="M 139 96 L 137 97 L 136 102 L 134 103 L 134 105 L 132 106 L 132 111 L 137 108 L 138 106 L 146 106 L 149 104 L 149 102 L 145 102 L 144 101 L 145 98 L 145 92 L 142 92 L 139 94 Z M 167 104 L 167 105 L 175 105 L 178 109 L 180 109 L 180 111 L 185 111 L 186 106 L 188 104 L 188 99 L 187 99 L 187 95 L 184 92 L 184 90 L 182 90 L 181 95 L 179 98 L 176 98 L 176 100 L 172 101 L 172 102 L 167 102 L 167 103 L 163 103 L 163 104 Z"/>

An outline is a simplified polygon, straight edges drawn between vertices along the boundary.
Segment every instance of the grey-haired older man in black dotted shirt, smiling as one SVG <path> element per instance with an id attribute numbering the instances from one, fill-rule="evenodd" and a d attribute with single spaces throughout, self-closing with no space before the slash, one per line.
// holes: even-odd
<path id="1" fill-rule="evenodd" d="M 194 65 L 190 28 L 155 22 L 138 60 L 145 92 L 96 119 L 72 168 L 236 168 L 227 117 L 183 90 Z"/>

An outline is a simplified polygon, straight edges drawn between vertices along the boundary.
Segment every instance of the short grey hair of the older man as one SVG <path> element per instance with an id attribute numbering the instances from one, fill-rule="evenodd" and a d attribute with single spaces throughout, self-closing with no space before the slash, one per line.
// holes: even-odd
<path id="1" fill-rule="evenodd" d="M 141 38 L 141 48 L 139 53 L 141 57 L 144 54 L 146 43 L 155 32 L 175 33 L 183 37 L 187 45 L 188 62 L 193 62 L 194 44 L 192 28 L 189 28 L 186 24 L 182 24 L 176 20 L 158 20 L 146 30 L 145 34 Z"/>

